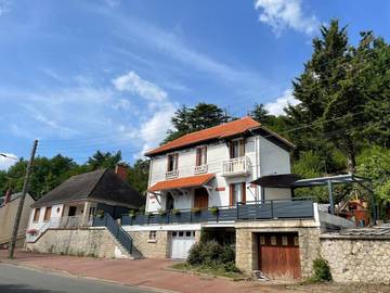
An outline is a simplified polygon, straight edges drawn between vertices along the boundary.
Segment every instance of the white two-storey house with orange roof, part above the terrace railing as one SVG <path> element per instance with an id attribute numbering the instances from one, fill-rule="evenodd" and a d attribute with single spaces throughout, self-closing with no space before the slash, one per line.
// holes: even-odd
<path id="1" fill-rule="evenodd" d="M 146 153 L 151 157 L 147 212 L 234 206 L 286 199 L 255 179 L 290 173 L 294 144 L 250 117 L 183 136 Z"/>

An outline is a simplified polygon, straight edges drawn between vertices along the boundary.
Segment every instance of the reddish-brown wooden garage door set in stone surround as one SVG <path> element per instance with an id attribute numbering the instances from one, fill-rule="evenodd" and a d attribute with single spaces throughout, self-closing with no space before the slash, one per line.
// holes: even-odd
<path id="1" fill-rule="evenodd" d="M 261 271 L 270 278 L 300 278 L 297 233 L 261 233 L 258 241 Z"/>

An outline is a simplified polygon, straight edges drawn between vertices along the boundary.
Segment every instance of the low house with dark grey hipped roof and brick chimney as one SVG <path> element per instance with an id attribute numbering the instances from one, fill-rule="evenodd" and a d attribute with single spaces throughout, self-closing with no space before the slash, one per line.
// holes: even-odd
<path id="1" fill-rule="evenodd" d="M 98 169 L 73 176 L 31 205 L 27 243 L 39 249 L 37 240 L 48 229 L 91 227 L 98 213 L 120 218 L 129 209 L 140 209 L 144 198 L 126 182 L 123 167 Z"/>

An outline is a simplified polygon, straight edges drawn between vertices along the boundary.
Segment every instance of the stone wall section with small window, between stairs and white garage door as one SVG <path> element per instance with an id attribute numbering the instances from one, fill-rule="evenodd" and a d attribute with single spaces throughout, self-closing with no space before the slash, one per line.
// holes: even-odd
<path id="1" fill-rule="evenodd" d="M 133 250 L 141 257 L 167 258 L 170 252 L 168 231 L 156 231 L 156 240 L 150 240 L 150 231 L 128 231 L 133 240 Z"/>

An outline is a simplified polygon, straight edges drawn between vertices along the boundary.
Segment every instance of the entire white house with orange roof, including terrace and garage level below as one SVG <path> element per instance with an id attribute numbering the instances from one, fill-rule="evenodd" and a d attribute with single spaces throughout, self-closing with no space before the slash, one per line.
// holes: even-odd
<path id="1" fill-rule="evenodd" d="M 353 224 L 322 213 L 288 186 L 257 179 L 290 174 L 294 144 L 250 117 L 185 135 L 147 152 L 146 214 L 122 228 L 144 257 L 184 259 L 200 234 L 235 247 L 245 273 L 310 277 L 320 235 Z"/>

